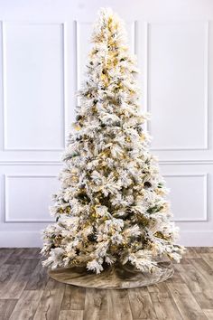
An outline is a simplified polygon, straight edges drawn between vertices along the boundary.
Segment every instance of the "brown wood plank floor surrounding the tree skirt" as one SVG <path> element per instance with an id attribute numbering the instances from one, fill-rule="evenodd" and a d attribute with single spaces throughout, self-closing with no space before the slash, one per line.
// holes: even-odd
<path id="1" fill-rule="evenodd" d="M 150 287 L 85 289 L 49 278 L 39 249 L 0 249 L 0 319 L 213 319 L 213 247 L 189 248 L 174 268 Z"/>

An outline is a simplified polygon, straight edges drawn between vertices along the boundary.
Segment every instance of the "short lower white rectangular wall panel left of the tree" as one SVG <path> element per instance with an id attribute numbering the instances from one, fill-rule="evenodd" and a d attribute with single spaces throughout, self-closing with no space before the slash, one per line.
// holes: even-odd
<path id="1" fill-rule="evenodd" d="M 49 206 L 58 189 L 52 175 L 6 175 L 5 222 L 54 221 Z"/>

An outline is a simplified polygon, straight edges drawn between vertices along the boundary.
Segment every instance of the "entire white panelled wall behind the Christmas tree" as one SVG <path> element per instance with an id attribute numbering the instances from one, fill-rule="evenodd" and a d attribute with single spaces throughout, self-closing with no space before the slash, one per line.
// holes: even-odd
<path id="1" fill-rule="evenodd" d="M 0 1 L 0 247 L 39 246 L 100 6 L 126 22 L 181 243 L 213 245 L 213 3 Z"/>

